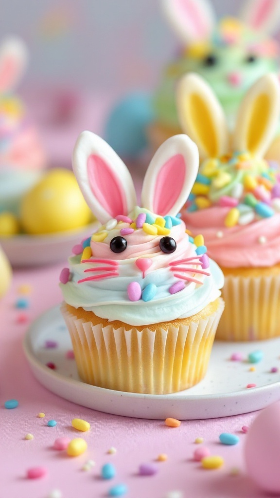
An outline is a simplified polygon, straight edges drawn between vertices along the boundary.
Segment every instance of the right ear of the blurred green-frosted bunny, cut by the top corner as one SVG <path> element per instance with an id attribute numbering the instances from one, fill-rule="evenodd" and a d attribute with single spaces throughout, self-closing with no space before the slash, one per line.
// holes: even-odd
<path id="1" fill-rule="evenodd" d="M 245 2 L 240 19 L 253 29 L 267 33 L 279 30 L 279 0 L 248 0 Z"/>

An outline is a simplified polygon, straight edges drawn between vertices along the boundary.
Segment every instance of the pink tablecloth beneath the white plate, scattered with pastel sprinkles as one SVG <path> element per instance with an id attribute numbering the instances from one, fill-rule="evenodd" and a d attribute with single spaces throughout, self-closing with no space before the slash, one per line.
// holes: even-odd
<path id="1" fill-rule="evenodd" d="M 63 498 L 103 498 L 118 483 L 128 486 L 128 498 L 166 498 L 168 492 L 181 491 L 184 498 L 257 498 L 259 492 L 246 476 L 243 444 L 246 434 L 243 425 L 250 425 L 255 414 L 215 420 L 183 421 L 171 429 L 162 421 L 139 420 L 108 415 L 67 402 L 42 387 L 32 376 L 23 356 L 22 339 L 30 320 L 61 299 L 57 285 L 63 265 L 14 272 L 12 288 L 0 303 L 0 496 L 2 498 L 47 498 L 52 490 L 60 490 Z M 30 284 L 28 323 L 17 323 L 18 310 L 14 303 L 21 284 Z M 15 398 L 17 408 L 7 410 L 4 401 Z M 37 414 L 44 412 L 45 418 Z M 79 437 L 71 427 L 71 420 L 80 417 L 91 423 L 83 433 L 88 442 L 87 453 L 70 458 L 52 448 L 57 437 Z M 49 419 L 57 421 L 48 427 Z M 222 446 L 221 432 L 240 436 L 237 446 Z M 32 433 L 34 439 L 24 439 Z M 204 438 L 204 445 L 212 454 L 224 457 L 219 470 L 206 471 L 192 460 L 196 437 Z M 108 449 L 114 446 L 115 455 Z M 160 453 L 166 462 L 155 463 Z M 96 465 L 90 471 L 82 466 L 89 459 Z M 102 480 L 104 463 L 115 465 L 117 475 L 112 481 Z M 142 463 L 155 463 L 158 473 L 151 477 L 139 475 Z M 48 474 L 38 480 L 26 479 L 26 470 L 44 466 Z M 239 469 L 232 475 L 232 469 Z"/>

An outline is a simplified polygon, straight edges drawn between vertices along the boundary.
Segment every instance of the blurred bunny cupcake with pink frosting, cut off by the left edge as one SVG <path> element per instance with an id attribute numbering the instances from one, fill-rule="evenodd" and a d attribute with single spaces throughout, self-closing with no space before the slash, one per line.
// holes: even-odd
<path id="1" fill-rule="evenodd" d="M 0 46 L 0 212 L 17 212 L 21 196 L 38 181 L 45 165 L 37 130 L 13 95 L 26 60 L 21 40 L 4 40 Z"/>

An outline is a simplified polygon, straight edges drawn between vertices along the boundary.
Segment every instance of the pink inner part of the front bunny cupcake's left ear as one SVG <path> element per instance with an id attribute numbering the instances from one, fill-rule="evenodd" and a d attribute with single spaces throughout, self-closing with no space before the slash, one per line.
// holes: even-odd
<path id="1" fill-rule="evenodd" d="M 88 178 L 93 195 L 112 218 L 127 215 L 126 196 L 118 177 L 100 156 L 88 158 Z"/>

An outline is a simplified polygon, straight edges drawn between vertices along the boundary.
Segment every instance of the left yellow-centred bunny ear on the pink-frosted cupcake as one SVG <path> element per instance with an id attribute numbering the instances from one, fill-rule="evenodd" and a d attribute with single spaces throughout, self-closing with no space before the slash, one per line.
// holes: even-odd
<path id="1" fill-rule="evenodd" d="M 176 100 L 182 130 L 197 144 L 201 159 L 228 152 L 226 118 L 210 86 L 195 73 L 185 74 L 178 82 Z"/>

